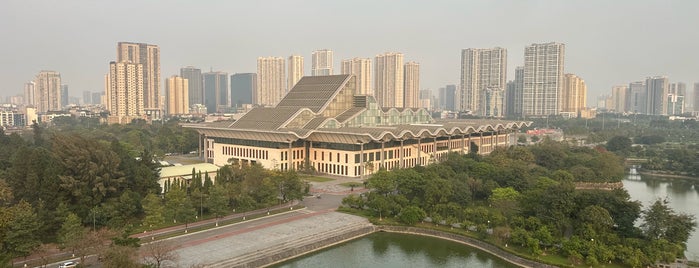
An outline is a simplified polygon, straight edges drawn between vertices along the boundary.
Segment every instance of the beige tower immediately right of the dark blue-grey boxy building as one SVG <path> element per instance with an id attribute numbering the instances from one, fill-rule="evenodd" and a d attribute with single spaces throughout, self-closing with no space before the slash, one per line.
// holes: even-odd
<path id="1" fill-rule="evenodd" d="M 275 106 L 286 95 L 284 58 L 257 58 L 257 94 L 255 104 Z"/>

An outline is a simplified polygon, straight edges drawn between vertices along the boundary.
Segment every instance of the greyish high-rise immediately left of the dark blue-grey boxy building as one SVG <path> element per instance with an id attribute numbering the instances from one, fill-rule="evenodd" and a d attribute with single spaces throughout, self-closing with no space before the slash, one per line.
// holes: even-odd
<path id="1" fill-rule="evenodd" d="M 208 72 L 204 77 L 204 105 L 207 113 L 226 111 L 231 105 L 228 96 L 228 73 Z"/>

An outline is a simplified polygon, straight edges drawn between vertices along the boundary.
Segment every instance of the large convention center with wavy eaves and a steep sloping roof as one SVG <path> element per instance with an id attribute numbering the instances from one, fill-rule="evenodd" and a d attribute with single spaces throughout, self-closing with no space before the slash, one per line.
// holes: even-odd
<path id="1" fill-rule="evenodd" d="M 353 75 L 307 76 L 276 107 L 235 122 L 185 124 L 208 163 L 260 164 L 362 177 L 380 168 L 427 165 L 450 152 L 487 154 L 515 143 L 530 122 L 433 119 L 425 109 L 379 107 L 357 95 Z M 201 151 L 201 150 L 200 150 Z"/>

